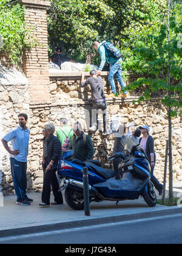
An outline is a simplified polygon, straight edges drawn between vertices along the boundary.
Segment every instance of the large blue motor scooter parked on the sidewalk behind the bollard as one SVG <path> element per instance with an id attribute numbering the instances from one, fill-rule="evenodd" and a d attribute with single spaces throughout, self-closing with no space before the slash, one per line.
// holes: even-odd
<path id="1" fill-rule="evenodd" d="M 58 176 L 61 179 L 59 190 L 65 191 L 67 205 L 73 210 L 84 209 L 83 167 L 88 168 L 90 202 L 135 200 L 140 196 L 150 207 L 157 204 L 157 197 L 150 182 L 150 164 L 139 146 L 132 149 L 132 154 L 123 158 L 119 169 L 123 174 L 121 180 L 115 179 L 112 169 L 101 167 L 97 160 L 82 162 L 72 159 L 73 152 L 62 155 L 58 165 Z M 118 157 L 113 155 L 109 160 Z"/>

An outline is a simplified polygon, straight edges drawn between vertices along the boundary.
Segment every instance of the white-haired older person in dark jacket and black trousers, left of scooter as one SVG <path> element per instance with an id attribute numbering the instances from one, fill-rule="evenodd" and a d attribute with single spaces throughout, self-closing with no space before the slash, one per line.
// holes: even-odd
<path id="1" fill-rule="evenodd" d="M 61 157 L 61 142 L 53 135 L 55 132 L 55 126 L 53 124 L 45 124 L 42 131 L 43 138 L 43 157 L 42 168 L 44 170 L 44 185 L 42 190 L 42 202 L 40 206 L 50 205 L 50 191 L 52 186 L 55 201 L 52 205 L 62 204 L 62 194 L 59 190 L 58 179 L 56 177 L 56 171 L 58 166 L 58 160 Z"/>

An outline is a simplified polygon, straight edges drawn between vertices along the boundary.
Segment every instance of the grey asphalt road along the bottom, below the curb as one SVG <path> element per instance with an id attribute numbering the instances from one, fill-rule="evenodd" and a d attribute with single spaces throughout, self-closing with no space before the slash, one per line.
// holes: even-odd
<path id="1" fill-rule="evenodd" d="M 182 215 L 0 238 L 0 244 L 27 243 L 79 244 L 79 247 L 80 244 L 181 244 Z"/>

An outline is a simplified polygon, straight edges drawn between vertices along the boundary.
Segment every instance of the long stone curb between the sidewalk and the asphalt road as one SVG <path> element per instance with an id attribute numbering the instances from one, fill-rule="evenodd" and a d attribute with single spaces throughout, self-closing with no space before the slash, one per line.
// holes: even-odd
<path id="1" fill-rule="evenodd" d="M 86 227 L 86 226 L 93 226 L 93 225 L 99 225 L 99 224 L 107 224 L 112 222 L 133 221 L 137 219 L 147 219 L 147 218 L 161 217 L 166 215 L 177 215 L 180 213 L 182 213 L 182 207 L 169 207 L 169 209 L 157 210 L 153 212 L 133 213 L 131 215 L 108 216 L 103 218 L 83 219 L 79 221 L 58 222 L 58 223 L 45 224 L 40 226 L 21 227 L 19 229 L 0 230 L 0 238 L 5 238 L 7 236 L 15 236 L 15 235 L 18 236 L 18 235 L 28 235 L 32 233 L 49 232 L 52 230 L 73 229 L 76 227 Z"/>

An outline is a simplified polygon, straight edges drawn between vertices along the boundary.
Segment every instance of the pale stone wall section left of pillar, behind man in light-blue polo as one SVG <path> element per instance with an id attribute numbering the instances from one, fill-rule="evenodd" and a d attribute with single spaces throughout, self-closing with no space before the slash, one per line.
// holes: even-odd
<path id="1" fill-rule="evenodd" d="M 0 140 L 18 125 L 18 114 L 30 115 L 28 85 L 2 85 L 0 83 Z M 1 142 L 0 142 L 1 143 Z M 4 194 L 12 194 L 13 181 L 10 170 L 9 154 L 0 144 L 0 170 L 2 169 L 2 187 Z M 28 175 L 28 180 L 30 176 Z"/>

